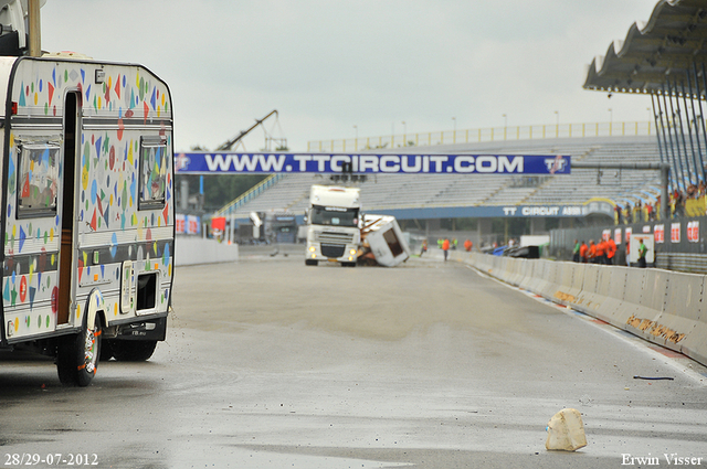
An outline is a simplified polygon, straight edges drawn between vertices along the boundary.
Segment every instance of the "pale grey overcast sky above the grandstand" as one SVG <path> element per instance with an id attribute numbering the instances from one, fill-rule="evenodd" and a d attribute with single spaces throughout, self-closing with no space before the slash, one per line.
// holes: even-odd
<path id="1" fill-rule="evenodd" d="M 176 151 L 213 149 L 273 109 L 267 128 L 303 151 L 354 126 L 377 137 L 503 127 L 504 114 L 508 126 L 647 121 L 650 97 L 582 84 L 656 2 L 48 0 L 42 49 L 150 68 L 172 93 Z M 246 149 L 263 145 L 256 130 Z"/>

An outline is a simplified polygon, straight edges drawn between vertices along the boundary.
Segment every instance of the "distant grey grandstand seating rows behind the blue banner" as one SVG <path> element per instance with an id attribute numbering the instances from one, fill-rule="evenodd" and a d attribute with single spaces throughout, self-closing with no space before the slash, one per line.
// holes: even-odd
<path id="1" fill-rule="evenodd" d="M 402 150 L 402 149 L 401 149 Z M 411 152 L 405 148 L 404 152 Z M 380 152 L 380 150 L 379 150 Z M 401 151 L 403 152 L 403 151 Z M 414 147 L 414 153 L 569 154 L 582 162 L 659 162 L 655 136 L 560 138 Z M 300 215 L 308 205 L 309 186 L 329 183 L 327 174 L 286 174 L 267 190 L 220 214 L 247 218 L 250 212 L 288 211 Z M 372 174 L 347 182 L 361 188 L 365 210 L 388 212 L 401 220 L 436 218 L 455 209 L 513 205 L 579 205 L 602 198 L 624 204 L 655 200 L 656 171 L 574 169 L 571 175 L 502 174 Z M 401 209 L 415 209 L 405 212 Z M 451 210 L 451 211 L 450 211 Z M 409 214 L 405 214 L 409 213 Z M 473 212 L 472 212 L 473 213 Z M 479 212 L 481 213 L 481 212 Z M 469 216 L 468 210 L 456 216 Z M 473 216 L 473 215 L 472 215 Z M 484 216 L 484 215 L 479 215 Z"/>

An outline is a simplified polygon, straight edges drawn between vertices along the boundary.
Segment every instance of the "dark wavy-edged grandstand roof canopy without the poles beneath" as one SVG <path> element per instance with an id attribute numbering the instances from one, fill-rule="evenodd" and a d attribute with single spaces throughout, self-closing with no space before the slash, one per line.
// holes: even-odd
<path id="1" fill-rule="evenodd" d="M 704 0 L 661 0 L 647 22 L 633 23 L 625 40 L 612 42 L 604 56 L 592 61 L 584 88 L 668 93 L 666 85 L 675 77 L 684 81 L 695 67 L 704 73 L 706 41 Z M 704 86 L 699 93 L 705 95 Z"/>

